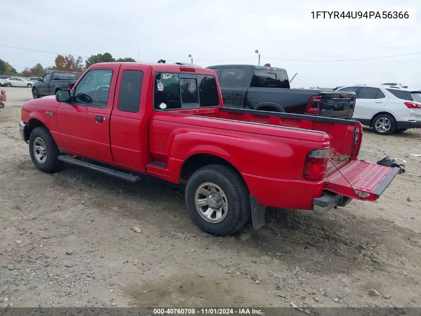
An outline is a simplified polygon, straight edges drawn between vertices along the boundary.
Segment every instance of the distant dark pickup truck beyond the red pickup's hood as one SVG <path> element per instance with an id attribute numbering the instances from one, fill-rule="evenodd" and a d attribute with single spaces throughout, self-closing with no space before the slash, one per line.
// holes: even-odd
<path id="1" fill-rule="evenodd" d="M 50 71 L 32 85 L 32 97 L 54 95 L 57 91 L 71 89 L 78 80 L 74 72 Z"/>

